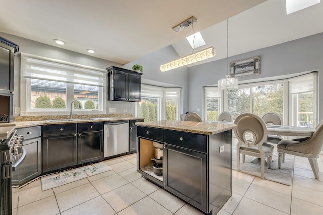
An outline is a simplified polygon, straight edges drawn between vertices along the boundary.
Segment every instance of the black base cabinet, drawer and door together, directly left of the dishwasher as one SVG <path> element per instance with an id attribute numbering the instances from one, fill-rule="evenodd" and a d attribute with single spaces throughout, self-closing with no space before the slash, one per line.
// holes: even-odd
<path id="1" fill-rule="evenodd" d="M 77 124 L 77 164 L 103 158 L 103 122 Z"/>

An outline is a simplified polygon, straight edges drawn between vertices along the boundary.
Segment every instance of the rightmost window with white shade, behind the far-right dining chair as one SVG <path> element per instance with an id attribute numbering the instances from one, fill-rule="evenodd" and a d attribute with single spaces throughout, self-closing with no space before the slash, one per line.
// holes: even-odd
<path id="1" fill-rule="evenodd" d="M 316 117 L 317 73 L 290 79 L 291 125 L 313 128 Z"/>

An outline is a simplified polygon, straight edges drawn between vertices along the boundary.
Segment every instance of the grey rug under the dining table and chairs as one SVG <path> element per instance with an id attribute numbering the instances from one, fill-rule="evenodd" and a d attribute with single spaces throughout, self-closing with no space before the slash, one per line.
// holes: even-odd
<path id="1" fill-rule="evenodd" d="M 243 163 L 242 155 L 240 155 L 239 171 L 260 177 L 260 164 L 251 163 L 250 161 L 253 158 L 254 157 L 246 155 L 245 162 Z M 236 153 L 232 153 L 232 169 L 237 169 Z M 285 162 L 281 165 L 281 169 L 278 169 L 278 157 L 277 155 L 273 155 L 272 168 L 268 169 L 267 165 L 264 166 L 264 179 L 291 186 L 293 180 L 293 170 L 294 156 L 286 156 Z"/>

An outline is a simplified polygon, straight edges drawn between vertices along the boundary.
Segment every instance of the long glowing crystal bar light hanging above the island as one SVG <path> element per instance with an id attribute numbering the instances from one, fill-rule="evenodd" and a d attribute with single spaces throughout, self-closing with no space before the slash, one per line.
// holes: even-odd
<path id="1" fill-rule="evenodd" d="M 216 56 L 216 52 L 214 51 L 213 46 L 203 49 L 201 51 L 189 54 L 185 57 L 179 58 L 177 60 L 174 60 L 172 62 L 163 64 L 160 66 L 160 71 L 168 71 L 174 68 L 178 68 L 181 66 L 185 66 L 188 64 L 192 64 L 201 60 L 205 60 L 211 57 Z"/>

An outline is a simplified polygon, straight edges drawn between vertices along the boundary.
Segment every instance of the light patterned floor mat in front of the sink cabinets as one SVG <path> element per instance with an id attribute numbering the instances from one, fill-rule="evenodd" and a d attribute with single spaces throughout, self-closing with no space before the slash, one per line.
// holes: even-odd
<path id="1" fill-rule="evenodd" d="M 103 162 L 99 162 L 64 172 L 53 173 L 41 177 L 41 190 L 52 189 L 109 170 L 112 169 Z"/>

